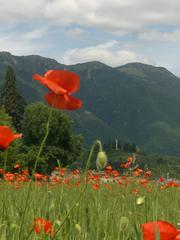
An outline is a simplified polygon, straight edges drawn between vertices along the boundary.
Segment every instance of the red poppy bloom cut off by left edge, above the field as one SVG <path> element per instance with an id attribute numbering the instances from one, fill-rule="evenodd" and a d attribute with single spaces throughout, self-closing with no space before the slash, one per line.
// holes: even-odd
<path id="1" fill-rule="evenodd" d="M 22 134 L 14 134 L 8 126 L 0 126 L 0 148 L 5 150 L 9 144 L 17 138 L 21 138 Z"/>

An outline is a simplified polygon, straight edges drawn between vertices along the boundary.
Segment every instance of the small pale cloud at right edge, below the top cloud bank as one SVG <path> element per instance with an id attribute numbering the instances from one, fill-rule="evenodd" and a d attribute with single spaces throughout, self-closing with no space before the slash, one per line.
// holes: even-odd
<path id="1" fill-rule="evenodd" d="M 154 42 L 171 42 L 180 44 L 180 29 L 171 32 L 160 32 L 157 30 L 149 30 L 138 35 L 140 40 Z"/>

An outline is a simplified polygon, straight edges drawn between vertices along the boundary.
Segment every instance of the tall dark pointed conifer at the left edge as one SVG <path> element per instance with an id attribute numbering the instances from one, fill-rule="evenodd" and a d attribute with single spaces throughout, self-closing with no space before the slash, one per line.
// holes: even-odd
<path id="1" fill-rule="evenodd" d="M 5 84 L 1 91 L 1 105 L 6 113 L 12 117 L 15 128 L 20 131 L 24 109 L 27 104 L 16 88 L 15 73 L 11 66 L 7 68 Z"/>

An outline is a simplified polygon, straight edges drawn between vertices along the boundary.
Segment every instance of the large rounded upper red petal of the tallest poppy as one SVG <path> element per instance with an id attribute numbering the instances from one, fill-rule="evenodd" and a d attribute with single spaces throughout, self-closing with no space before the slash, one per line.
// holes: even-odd
<path id="1" fill-rule="evenodd" d="M 79 84 L 80 77 L 77 74 L 73 72 L 69 72 L 67 70 L 49 70 L 44 74 L 44 77 L 47 80 L 49 80 L 51 83 L 61 86 L 63 89 L 67 91 L 67 93 L 76 92 L 80 86 Z M 55 92 L 55 93 L 61 94 L 62 92 Z"/>

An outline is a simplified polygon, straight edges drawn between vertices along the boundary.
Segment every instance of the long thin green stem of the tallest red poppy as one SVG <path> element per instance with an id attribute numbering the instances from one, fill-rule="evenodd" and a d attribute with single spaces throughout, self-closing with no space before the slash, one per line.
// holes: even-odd
<path id="1" fill-rule="evenodd" d="M 51 116 L 52 116 L 52 112 L 53 112 L 53 108 L 50 109 L 50 112 L 49 112 L 49 116 L 48 116 L 48 120 L 47 120 L 47 124 L 46 124 L 46 133 L 45 133 L 45 136 L 41 142 L 41 146 L 39 148 L 39 151 L 38 151 L 38 154 L 36 156 L 36 161 L 34 163 L 34 168 L 33 168 L 33 171 L 32 171 L 32 177 L 34 176 L 34 173 L 36 171 L 36 168 L 37 168 L 37 164 L 38 164 L 38 161 L 39 161 L 39 158 L 40 158 L 40 155 L 41 155 L 41 152 L 43 150 L 43 147 L 44 147 L 44 144 L 47 140 L 47 137 L 48 137 L 48 134 L 49 134 L 49 125 L 50 125 L 50 120 L 51 120 Z M 24 208 L 24 211 L 23 211 L 23 214 L 22 214 L 22 221 L 21 221 L 21 226 L 20 226 L 20 232 L 19 232 L 19 239 L 21 239 L 21 234 L 22 234 L 22 229 L 23 229 L 23 224 L 24 224 L 24 218 L 25 218 L 25 215 L 26 215 L 26 210 L 27 210 L 27 207 L 28 207 L 28 200 L 29 200 L 29 197 L 30 197 L 30 193 L 31 193 L 31 188 L 32 188 L 32 181 L 29 183 L 29 188 L 28 188 L 28 192 L 27 192 L 27 197 L 26 197 L 26 200 L 25 200 L 25 208 Z M 23 239 L 24 240 L 24 239 Z"/>

